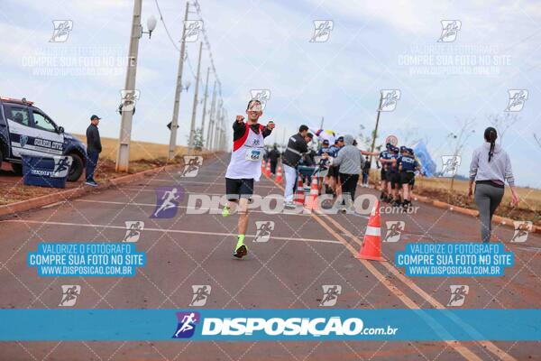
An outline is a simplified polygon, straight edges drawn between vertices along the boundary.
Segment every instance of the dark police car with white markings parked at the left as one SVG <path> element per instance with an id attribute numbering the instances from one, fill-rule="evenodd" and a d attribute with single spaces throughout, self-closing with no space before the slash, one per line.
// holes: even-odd
<path id="1" fill-rule="evenodd" d="M 0 97 L 0 164 L 10 162 L 22 174 L 22 154 L 71 156 L 68 180 L 75 181 L 85 169 L 87 146 L 25 98 Z"/>

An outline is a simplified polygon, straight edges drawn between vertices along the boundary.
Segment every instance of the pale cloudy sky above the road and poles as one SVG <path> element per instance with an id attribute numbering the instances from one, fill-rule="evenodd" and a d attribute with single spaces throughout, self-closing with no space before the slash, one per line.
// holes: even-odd
<path id="1" fill-rule="evenodd" d="M 84 133 L 97 114 L 103 136 L 117 137 L 115 112 L 124 88 L 133 1 L 0 0 L 1 95 L 27 97 L 68 132 Z M 185 3 L 158 0 L 179 46 Z M 277 125 L 281 142 L 300 124 L 357 135 L 373 128 L 381 89 L 399 89 L 392 112 L 381 113 L 381 137 L 395 134 L 410 145 L 424 139 L 440 157 L 454 152 L 453 134 L 469 122 L 459 173 L 482 143 L 490 117 L 506 116 L 509 89 L 527 89 L 521 111 L 503 137 L 519 185 L 541 187 L 541 5 L 535 2 L 374 2 L 351 0 L 210 1 L 201 12 L 231 122 L 243 114 L 251 89 L 269 89 L 262 123 Z M 143 0 L 142 20 L 160 18 L 155 1 Z M 197 13 L 189 19 L 196 20 Z M 71 20 L 66 42 L 50 42 L 53 20 Z M 326 42 L 310 42 L 314 21 L 330 20 Z M 454 36 L 442 21 L 457 20 Z M 325 37 L 316 38 L 325 40 Z M 197 67 L 197 42 L 187 44 L 180 99 L 179 143 L 186 143 Z M 209 66 L 204 48 L 202 73 Z M 179 51 L 159 21 L 139 49 L 140 99 L 133 139 L 169 143 Z M 201 87 L 204 86 L 204 78 Z M 209 83 L 212 85 L 213 78 Z M 197 124 L 202 106 L 197 109 Z M 227 125 L 229 128 L 230 125 Z"/>

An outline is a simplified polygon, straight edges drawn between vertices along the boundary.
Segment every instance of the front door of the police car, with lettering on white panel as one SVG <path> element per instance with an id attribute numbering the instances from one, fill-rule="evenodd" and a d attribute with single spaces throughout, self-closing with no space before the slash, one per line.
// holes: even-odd
<path id="1" fill-rule="evenodd" d="M 57 125 L 50 117 L 36 108 L 31 108 L 33 152 L 42 156 L 62 155 L 64 148 L 64 134 L 59 134 Z"/>

